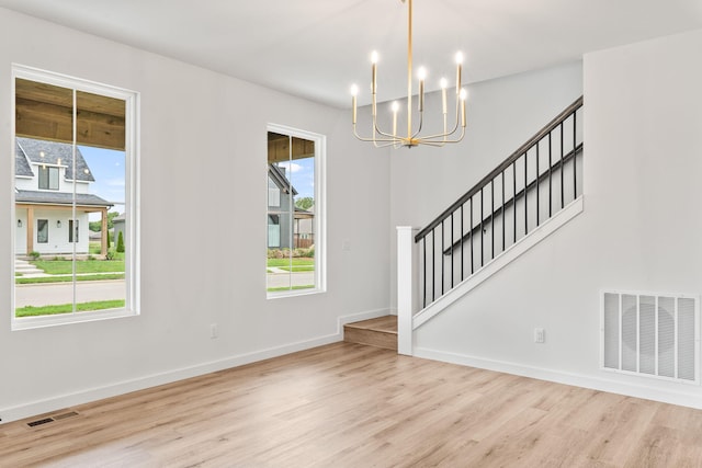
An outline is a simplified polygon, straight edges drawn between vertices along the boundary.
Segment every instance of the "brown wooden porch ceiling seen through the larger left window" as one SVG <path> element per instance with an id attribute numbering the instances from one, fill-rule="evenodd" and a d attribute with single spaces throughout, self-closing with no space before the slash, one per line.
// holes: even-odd
<path id="1" fill-rule="evenodd" d="M 15 135 L 73 141 L 73 90 L 18 78 Z M 76 142 L 125 150 L 125 101 L 76 91 Z"/>

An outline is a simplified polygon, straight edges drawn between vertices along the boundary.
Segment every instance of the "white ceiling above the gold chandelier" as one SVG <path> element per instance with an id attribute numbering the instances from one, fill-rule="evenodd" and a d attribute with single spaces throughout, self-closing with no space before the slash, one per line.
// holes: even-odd
<path id="1" fill-rule="evenodd" d="M 316 102 L 348 107 L 370 83 L 407 92 L 400 0 L 0 0 L 42 18 Z M 700 0 L 414 0 L 415 65 L 427 85 L 464 84 L 578 60 L 585 53 L 702 27 Z M 361 85 L 363 84 L 363 85 Z M 359 98 L 366 103 L 365 96 Z"/>

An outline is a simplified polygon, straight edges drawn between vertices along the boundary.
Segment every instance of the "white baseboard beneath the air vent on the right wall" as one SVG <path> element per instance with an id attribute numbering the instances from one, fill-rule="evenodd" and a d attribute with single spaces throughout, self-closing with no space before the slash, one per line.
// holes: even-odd
<path id="1" fill-rule="evenodd" d="M 441 361 L 444 363 L 458 364 L 462 366 L 476 367 L 480 369 L 495 370 L 505 374 L 512 374 L 522 377 L 547 380 L 556 384 L 570 385 L 574 387 L 589 388 L 592 390 L 607 391 L 610 393 L 625 395 L 627 397 L 642 398 L 645 400 L 659 401 L 663 403 L 679 404 L 682 407 L 702 409 L 702 392 L 700 387 L 689 384 L 673 384 L 675 389 L 653 388 L 645 383 L 623 383 L 605 377 L 593 377 L 581 374 L 547 369 L 542 367 L 528 366 L 523 364 L 509 363 L 503 361 L 487 359 L 483 357 L 467 356 L 457 353 L 415 347 L 415 357 Z M 643 377 L 634 377 L 638 380 Z"/>

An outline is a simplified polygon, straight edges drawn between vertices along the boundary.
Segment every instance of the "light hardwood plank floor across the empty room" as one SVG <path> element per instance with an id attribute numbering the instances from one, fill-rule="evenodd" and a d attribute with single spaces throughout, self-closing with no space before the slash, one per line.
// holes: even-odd
<path id="1" fill-rule="evenodd" d="M 349 343 L 67 411 L 0 466 L 702 467 L 702 411 Z"/>

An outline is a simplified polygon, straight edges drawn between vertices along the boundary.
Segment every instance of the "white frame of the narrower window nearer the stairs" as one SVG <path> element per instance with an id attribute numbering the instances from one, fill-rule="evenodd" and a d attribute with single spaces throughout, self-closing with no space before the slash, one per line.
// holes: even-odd
<path id="1" fill-rule="evenodd" d="M 327 137 L 325 135 L 313 132 L 301 130 L 285 125 L 269 124 L 265 136 L 269 133 L 287 135 L 288 137 L 303 138 L 315 142 L 315 287 L 308 289 L 290 289 L 290 290 L 267 290 L 268 299 L 279 299 L 285 297 L 306 296 L 310 294 L 320 294 L 327 292 Z M 265 168 L 265 190 L 268 191 L 268 158 Z M 268 195 L 268 193 L 267 193 Z M 265 219 L 268 229 L 268 196 Z M 293 222 L 291 220 L 291 229 Z M 264 237 L 265 250 L 268 251 L 268 236 Z M 265 272 L 265 269 L 263 269 Z M 268 279 L 265 281 L 268 287 Z"/>

